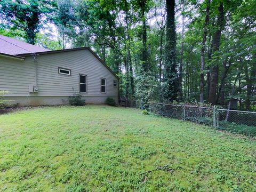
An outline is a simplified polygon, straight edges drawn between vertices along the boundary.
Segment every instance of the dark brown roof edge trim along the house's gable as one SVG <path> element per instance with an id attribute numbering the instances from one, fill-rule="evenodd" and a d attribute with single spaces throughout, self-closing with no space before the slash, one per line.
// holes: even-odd
<path id="1" fill-rule="evenodd" d="M 44 55 L 44 54 L 52 54 L 52 53 L 62 53 L 62 52 L 68 52 L 68 51 L 79 51 L 79 50 L 89 50 L 105 67 L 107 67 L 107 69 L 117 78 L 119 79 L 119 77 L 116 76 L 116 74 L 114 73 L 113 70 L 111 70 L 107 64 L 100 59 L 100 57 L 94 52 L 92 51 L 92 49 L 90 47 L 79 47 L 79 48 L 72 48 L 72 49 L 65 49 L 65 50 L 55 50 L 55 51 L 43 51 L 43 52 L 35 52 L 34 54 L 37 55 Z M 17 54 L 15 56 L 17 57 L 28 57 L 31 56 L 31 53 L 24 53 L 24 54 Z"/>

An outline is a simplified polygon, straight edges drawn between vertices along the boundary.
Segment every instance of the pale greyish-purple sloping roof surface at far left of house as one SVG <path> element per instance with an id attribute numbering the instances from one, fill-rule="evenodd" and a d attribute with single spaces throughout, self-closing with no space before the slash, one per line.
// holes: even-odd
<path id="1" fill-rule="evenodd" d="M 43 51 L 50 51 L 50 50 L 19 41 L 14 38 L 0 35 L 0 53 L 17 55 L 17 54 L 35 53 L 35 52 L 43 52 Z"/>

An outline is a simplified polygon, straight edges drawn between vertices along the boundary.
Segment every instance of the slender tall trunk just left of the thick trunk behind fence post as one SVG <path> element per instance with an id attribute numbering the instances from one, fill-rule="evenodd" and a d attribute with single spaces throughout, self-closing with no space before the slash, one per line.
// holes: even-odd
<path id="1" fill-rule="evenodd" d="M 207 26 L 209 24 L 211 0 L 207 0 L 206 15 L 204 21 L 204 34 L 201 48 L 201 74 L 200 74 L 200 97 L 199 102 L 204 102 L 204 66 L 205 66 L 205 42 L 207 37 Z"/>

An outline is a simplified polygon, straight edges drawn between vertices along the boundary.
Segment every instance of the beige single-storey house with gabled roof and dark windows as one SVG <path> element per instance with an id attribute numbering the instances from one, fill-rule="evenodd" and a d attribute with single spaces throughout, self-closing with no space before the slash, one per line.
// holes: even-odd
<path id="1" fill-rule="evenodd" d="M 117 102 L 118 78 L 89 47 L 50 51 L 0 35 L 0 90 L 21 106 L 63 105 L 74 93 Z"/>

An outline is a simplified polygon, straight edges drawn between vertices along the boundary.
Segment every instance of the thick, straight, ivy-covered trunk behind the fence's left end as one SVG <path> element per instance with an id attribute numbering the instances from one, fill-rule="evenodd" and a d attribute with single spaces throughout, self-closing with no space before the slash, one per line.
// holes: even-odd
<path id="1" fill-rule="evenodd" d="M 175 0 L 166 0 L 166 44 L 163 97 L 172 102 L 178 96 L 178 74 L 176 58 Z"/>

